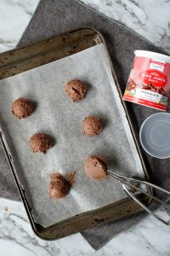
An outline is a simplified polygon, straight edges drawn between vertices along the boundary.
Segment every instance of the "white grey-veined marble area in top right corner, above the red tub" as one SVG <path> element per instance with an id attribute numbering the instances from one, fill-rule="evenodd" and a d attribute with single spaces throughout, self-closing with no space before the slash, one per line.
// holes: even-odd
<path id="1" fill-rule="evenodd" d="M 80 0 L 170 53 L 169 0 Z"/>

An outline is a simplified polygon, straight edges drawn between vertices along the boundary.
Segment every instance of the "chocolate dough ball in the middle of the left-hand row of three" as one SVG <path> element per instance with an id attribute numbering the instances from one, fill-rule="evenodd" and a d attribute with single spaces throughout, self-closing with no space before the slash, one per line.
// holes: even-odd
<path id="1" fill-rule="evenodd" d="M 52 143 L 49 137 L 43 133 L 36 133 L 30 138 L 30 148 L 35 152 L 46 153 L 49 148 L 52 148 Z"/>

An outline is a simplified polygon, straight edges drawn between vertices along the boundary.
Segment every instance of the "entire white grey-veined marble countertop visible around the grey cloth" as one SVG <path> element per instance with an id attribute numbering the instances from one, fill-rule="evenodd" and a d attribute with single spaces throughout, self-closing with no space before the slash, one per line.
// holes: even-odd
<path id="1" fill-rule="evenodd" d="M 13 49 L 37 7 L 38 0 L 0 0 L 0 52 Z M 102 15 L 128 26 L 170 53 L 169 0 L 81 0 Z M 159 13 L 157 12 L 159 10 Z M 170 218 L 164 208 L 157 212 Z M 94 252 L 80 234 L 42 241 L 28 223 L 21 202 L 0 198 L 0 255 L 170 255 L 170 228 L 148 217 Z M 123 246 L 122 246 L 123 245 Z"/>

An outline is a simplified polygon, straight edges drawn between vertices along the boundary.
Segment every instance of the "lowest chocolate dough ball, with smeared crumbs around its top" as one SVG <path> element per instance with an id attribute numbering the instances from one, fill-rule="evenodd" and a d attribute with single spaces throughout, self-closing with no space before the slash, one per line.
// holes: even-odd
<path id="1" fill-rule="evenodd" d="M 51 174 L 50 177 L 51 182 L 48 186 L 49 195 L 55 199 L 65 197 L 69 192 L 70 184 L 58 172 Z"/>

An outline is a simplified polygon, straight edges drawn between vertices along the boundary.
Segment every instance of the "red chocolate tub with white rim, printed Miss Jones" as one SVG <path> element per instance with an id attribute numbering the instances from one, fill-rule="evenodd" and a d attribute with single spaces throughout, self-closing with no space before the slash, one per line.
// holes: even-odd
<path id="1" fill-rule="evenodd" d="M 136 50 L 123 100 L 167 111 L 170 56 Z"/>

